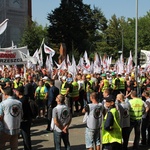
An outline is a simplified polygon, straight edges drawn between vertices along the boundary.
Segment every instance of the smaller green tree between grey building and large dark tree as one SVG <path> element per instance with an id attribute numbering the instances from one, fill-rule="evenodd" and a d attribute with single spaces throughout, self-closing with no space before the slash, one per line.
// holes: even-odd
<path id="1" fill-rule="evenodd" d="M 47 28 L 43 28 L 43 26 L 38 25 L 37 22 L 32 22 L 29 24 L 23 33 L 20 46 L 28 46 L 30 54 L 36 51 L 37 48 L 40 47 L 43 38 L 47 37 Z"/>

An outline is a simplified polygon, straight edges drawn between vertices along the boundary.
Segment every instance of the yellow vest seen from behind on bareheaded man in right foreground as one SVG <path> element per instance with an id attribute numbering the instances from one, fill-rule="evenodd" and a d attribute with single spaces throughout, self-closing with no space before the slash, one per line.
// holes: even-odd
<path id="1" fill-rule="evenodd" d="M 143 101 L 140 98 L 134 98 L 129 101 L 130 103 L 130 118 L 131 120 L 140 120 L 143 115 Z"/>

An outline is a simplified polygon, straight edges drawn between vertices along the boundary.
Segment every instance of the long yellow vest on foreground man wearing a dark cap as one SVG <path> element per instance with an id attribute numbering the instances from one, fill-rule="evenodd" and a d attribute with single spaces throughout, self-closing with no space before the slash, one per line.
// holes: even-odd
<path id="1" fill-rule="evenodd" d="M 103 127 L 102 127 L 102 144 L 109 144 L 109 143 L 122 143 L 122 130 L 119 125 L 119 113 L 116 108 L 112 108 L 110 112 L 113 115 L 114 123 L 112 126 L 111 131 L 107 131 L 104 129 L 104 125 L 106 122 L 107 114 L 104 117 Z"/>

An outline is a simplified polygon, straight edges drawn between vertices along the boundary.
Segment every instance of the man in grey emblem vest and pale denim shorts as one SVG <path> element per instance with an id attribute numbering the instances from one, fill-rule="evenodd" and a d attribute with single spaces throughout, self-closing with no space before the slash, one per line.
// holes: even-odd
<path id="1" fill-rule="evenodd" d="M 83 109 L 83 113 L 86 113 L 86 131 L 85 142 L 86 148 L 91 150 L 100 150 L 100 127 L 102 123 L 102 111 L 103 107 L 101 103 L 98 103 L 98 95 L 93 92 L 90 94 L 91 104 L 87 104 Z"/>

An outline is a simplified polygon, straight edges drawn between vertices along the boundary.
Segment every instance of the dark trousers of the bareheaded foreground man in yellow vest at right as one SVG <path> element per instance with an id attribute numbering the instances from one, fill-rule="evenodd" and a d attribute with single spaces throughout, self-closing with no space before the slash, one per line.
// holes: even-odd
<path id="1" fill-rule="evenodd" d="M 141 120 L 131 120 L 130 121 L 130 129 L 129 129 L 129 135 L 134 128 L 134 143 L 133 143 L 133 149 L 138 150 L 139 149 L 139 141 L 140 141 L 140 125 Z"/>

